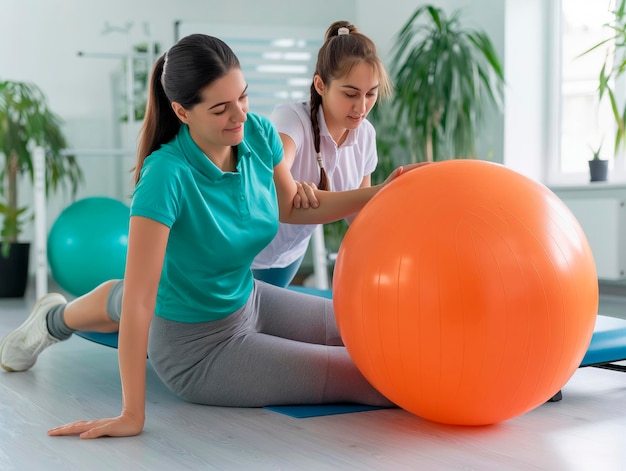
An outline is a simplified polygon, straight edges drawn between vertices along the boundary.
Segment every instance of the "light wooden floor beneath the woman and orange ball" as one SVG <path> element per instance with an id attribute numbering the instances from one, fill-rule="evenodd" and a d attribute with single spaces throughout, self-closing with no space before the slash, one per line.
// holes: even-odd
<path id="1" fill-rule="evenodd" d="M 0 300 L 0 337 L 24 320 L 32 298 Z M 603 299 L 601 311 L 626 317 L 626 301 Z M 582 368 L 563 394 L 488 427 L 399 409 L 294 419 L 184 403 L 149 368 L 141 435 L 51 438 L 50 427 L 120 410 L 117 351 L 75 337 L 28 372 L 0 373 L 0 470 L 625 470 L 626 374 Z"/>

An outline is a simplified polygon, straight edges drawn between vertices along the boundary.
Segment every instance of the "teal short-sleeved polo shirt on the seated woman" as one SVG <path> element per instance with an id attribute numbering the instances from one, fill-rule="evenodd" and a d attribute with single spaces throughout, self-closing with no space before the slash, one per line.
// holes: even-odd
<path id="1" fill-rule="evenodd" d="M 268 119 L 248 113 L 237 172 L 222 172 L 182 125 L 150 154 L 131 216 L 170 228 L 155 314 L 178 322 L 227 317 L 247 301 L 250 266 L 278 230 L 274 166 L 283 158 Z"/>

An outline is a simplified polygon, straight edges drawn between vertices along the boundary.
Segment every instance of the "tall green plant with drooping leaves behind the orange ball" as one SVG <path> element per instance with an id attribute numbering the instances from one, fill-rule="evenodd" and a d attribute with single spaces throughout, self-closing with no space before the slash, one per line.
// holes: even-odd
<path id="1" fill-rule="evenodd" d="M 412 160 L 476 157 L 485 105 L 502 109 L 504 73 L 489 37 L 462 27 L 458 11 L 421 6 L 396 37 L 391 72 Z"/>

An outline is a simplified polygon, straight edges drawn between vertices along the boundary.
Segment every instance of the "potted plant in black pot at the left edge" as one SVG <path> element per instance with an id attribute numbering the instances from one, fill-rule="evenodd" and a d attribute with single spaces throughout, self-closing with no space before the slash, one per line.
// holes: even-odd
<path id="1" fill-rule="evenodd" d="M 61 119 L 35 84 L 0 80 L 0 297 L 23 296 L 26 288 L 30 243 L 20 234 L 32 214 L 19 203 L 19 184 L 25 176 L 33 181 L 33 146 L 46 152 L 46 192 L 69 185 L 74 195 L 82 171 L 62 152 Z"/>

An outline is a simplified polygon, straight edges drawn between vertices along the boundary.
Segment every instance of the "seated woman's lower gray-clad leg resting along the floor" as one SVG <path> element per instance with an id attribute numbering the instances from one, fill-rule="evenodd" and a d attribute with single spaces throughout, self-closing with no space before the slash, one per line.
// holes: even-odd
<path id="1" fill-rule="evenodd" d="M 337 402 L 391 405 L 340 346 L 252 333 L 230 342 L 197 368 L 201 372 L 197 377 L 205 380 L 188 390 L 185 399 L 192 402 L 208 400 L 235 407 Z"/>

